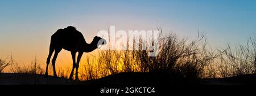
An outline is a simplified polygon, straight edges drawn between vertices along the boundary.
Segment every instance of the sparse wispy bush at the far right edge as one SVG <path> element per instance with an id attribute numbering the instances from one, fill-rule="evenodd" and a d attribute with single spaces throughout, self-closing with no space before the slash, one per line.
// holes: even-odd
<path id="1" fill-rule="evenodd" d="M 255 38 L 247 41 L 247 45 L 235 46 L 228 44 L 228 47 L 222 50 L 222 55 L 218 62 L 218 71 L 221 77 L 231 77 L 255 73 L 256 69 L 256 43 Z"/>

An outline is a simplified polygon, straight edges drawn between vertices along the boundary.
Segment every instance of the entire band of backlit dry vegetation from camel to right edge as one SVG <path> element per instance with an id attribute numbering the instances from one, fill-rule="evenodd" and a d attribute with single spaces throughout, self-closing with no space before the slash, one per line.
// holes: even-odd
<path id="1" fill-rule="evenodd" d="M 120 72 L 167 72 L 191 79 L 255 73 L 254 38 L 250 38 L 246 46 L 235 46 L 235 50 L 229 45 L 213 50 L 204 34 L 195 40 L 175 34 L 159 37 L 159 40 L 159 54 L 153 57 L 148 56 L 148 47 L 147 50 L 131 51 L 109 49 L 100 51 L 98 56 L 87 56 L 85 69 L 89 77 L 86 80 Z M 141 41 L 135 43 L 142 45 Z"/>

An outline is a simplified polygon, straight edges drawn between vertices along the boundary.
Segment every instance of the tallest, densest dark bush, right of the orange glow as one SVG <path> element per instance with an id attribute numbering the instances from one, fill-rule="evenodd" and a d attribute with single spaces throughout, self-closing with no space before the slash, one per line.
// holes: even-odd
<path id="1" fill-rule="evenodd" d="M 204 69 L 218 56 L 206 49 L 204 38 L 201 35 L 196 40 L 188 41 L 175 34 L 160 38 L 157 56 L 148 56 L 149 50 L 137 51 L 142 72 L 168 72 L 187 78 L 204 77 Z"/>

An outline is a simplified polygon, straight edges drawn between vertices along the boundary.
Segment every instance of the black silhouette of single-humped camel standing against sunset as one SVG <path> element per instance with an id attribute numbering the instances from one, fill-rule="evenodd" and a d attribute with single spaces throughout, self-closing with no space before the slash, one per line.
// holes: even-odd
<path id="1" fill-rule="evenodd" d="M 58 29 L 57 32 L 52 34 L 51 37 L 51 43 L 49 46 L 49 55 L 47 58 L 47 66 L 46 66 L 46 73 L 45 76 L 48 76 L 48 66 L 51 59 L 51 55 L 53 51 L 55 51 L 55 54 L 52 58 L 52 67 L 54 76 L 56 77 L 56 71 L 55 71 L 55 61 L 57 59 L 57 55 L 60 53 L 62 49 L 71 51 L 72 60 L 73 60 L 73 68 L 71 71 L 71 74 L 69 75 L 69 79 L 73 79 L 73 72 L 76 67 L 76 80 L 79 80 L 78 78 L 78 69 L 79 69 L 79 62 L 81 59 L 82 54 L 89 53 L 95 49 L 97 49 L 100 45 L 105 45 L 106 40 L 104 40 L 101 37 L 95 36 L 93 38 L 93 41 L 91 43 L 86 43 L 84 36 L 82 36 L 82 33 L 76 30 L 75 27 L 67 27 L 64 29 Z M 76 62 L 76 53 L 79 53 L 77 56 L 77 62 Z"/>

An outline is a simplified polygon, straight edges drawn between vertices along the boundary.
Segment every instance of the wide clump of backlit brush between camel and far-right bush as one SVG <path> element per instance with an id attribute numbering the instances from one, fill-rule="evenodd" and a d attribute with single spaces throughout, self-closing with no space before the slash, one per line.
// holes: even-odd
<path id="1" fill-rule="evenodd" d="M 161 30 L 160 30 L 161 31 Z M 162 32 L 160 32 L 162 33 Z M 142 47 L 142 40 L 135 44 Z M 151 41 L 154 43 L 156 41 Z M 110 42 L 111 43 L 111 42 Z M 110 43 L 109 46 L 111 45 Z M 150 45 L 151 43 L 146 43 Z M 104 77 L 120 72 L 167 72 L 187 78 L 202 78 L 206 75 L 207 67 L 214 62 L 219 55 L 208 51 L 207 42 L 204 35 L 196 40 L 189 41 L 187 38 L 179 38 L 175 34 L 168 37 L 159 37 L 159 54 L 148 56 L 151 50 L 103 50 L 98 56 L 94 56 L 93 62 L 87 62 L 90 66 L 89 76 L 92 78 L 92 68 L 94 77 Z M 128 45 L 127 46 L 135 46 Z M 90 61 L 86 59 L 86 61 Z M 97 64 L 95 64 L 97 63 Z M 98 65 L 93 66 L 92 65 Z M 100 69 L 96 69 L 100 68 Z"/>

